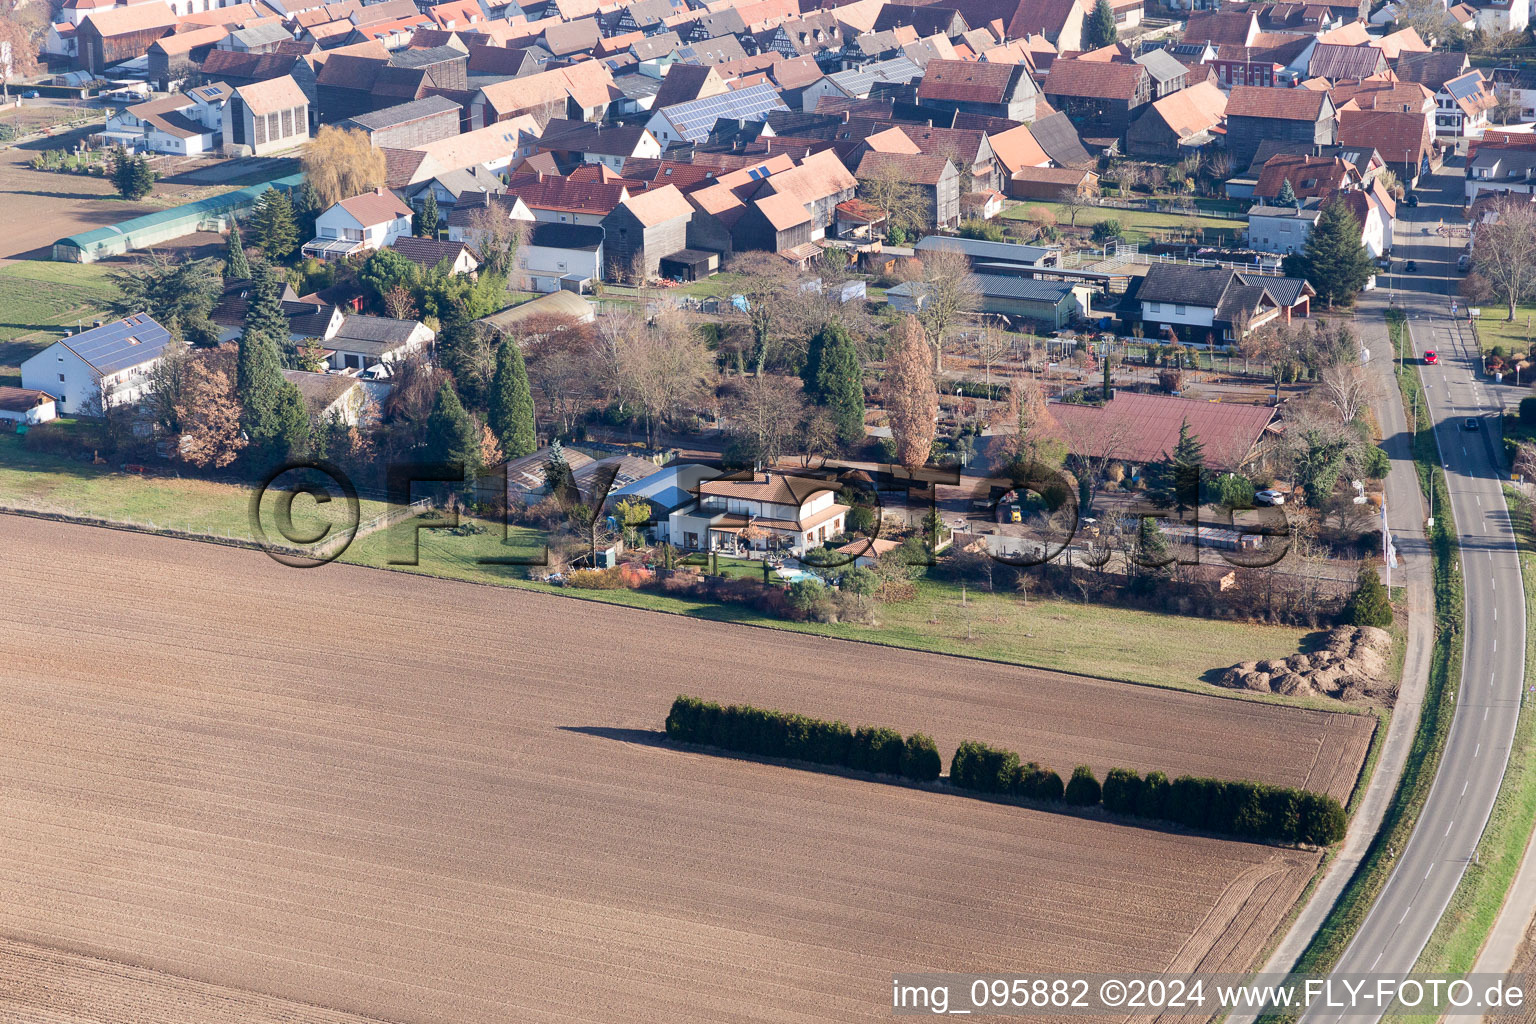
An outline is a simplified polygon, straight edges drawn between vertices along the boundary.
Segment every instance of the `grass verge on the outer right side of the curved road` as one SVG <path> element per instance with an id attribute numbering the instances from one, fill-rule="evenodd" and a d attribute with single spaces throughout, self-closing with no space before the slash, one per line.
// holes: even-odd
<path id="1" fill-rule="evenodd" d="M 1536 545 L 1531 542 L 1531 504 L 1505 485 L 1504 500 L 1514 525 L 1525 583 L 1525 617 L 1536 609 Z M 1536 637 L 1525 633 L 1525 677 L 1536 668 Z M 1536 824 L 1536 712 L 1522 703 L 1510 763 L 1504 769 L 1499 797 L 1488 815 L 1488 826 L 1478 843 L 1478 857 L 1467 866 L 1445 917 L 1430 935 L 1415 970 L 1467 972 L 1478 960 L 1504 898 L 1514 883 L 1525 857 L 1525 844 Z M 1407 1019 L 1407 1018 L 1402 1018 Z"/>

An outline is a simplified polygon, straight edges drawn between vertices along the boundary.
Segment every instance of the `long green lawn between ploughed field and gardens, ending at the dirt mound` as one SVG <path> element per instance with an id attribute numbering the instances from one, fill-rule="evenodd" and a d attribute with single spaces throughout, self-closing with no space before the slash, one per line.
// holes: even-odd
<path id="1" fill-rule="evenodd" d="M 794 629 L 1247 699 L 1266 697 L 1217 691 L 1200 682 L 1200 677 L 1209 669 L 1226 668 L 1235 662 L 1295 654 L 1307 633 L 1290 626 L 1170 617 L 1071 600 L 1025 599 L 1015 594 L 969 591 L 962 603 L 957 586 L 932 580 L 919 583 L 915 600 L 883 605 L 876 625 L 786 622 L 742 605 L 716 605 L 654 591 L 588 591 L 535 583 L 528 580 L 528 562 L 538 560 L 542 537 L 538 531 L 521 527 L 510 527 L 505 542 L 501 539 L 499 527 L 472 536 L 422 530 L 418 565 L 390 565 L 392 557 L 401 557 L 402 548 L 398 537 L 386 534 L 389 531 L 358 540 L 341 560 L 475 583 L 538 590 L 716 622 Z M 404 550 L 409 551 L 409 540 Z M 516 565 L 479 562 L 482 557 L 496 556 L 513 556 L 524 562 Z M 720 568 L 746 579 L 762 577 L 762 565 L 757 562 L 722 559 Z M 1281 697 L 1273 697 L 1272 702 L 1295 703 Z M 1335 702 L 1312 703 L 1339 709 Z"/>

